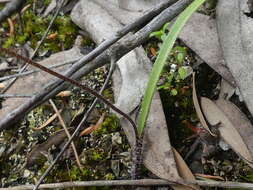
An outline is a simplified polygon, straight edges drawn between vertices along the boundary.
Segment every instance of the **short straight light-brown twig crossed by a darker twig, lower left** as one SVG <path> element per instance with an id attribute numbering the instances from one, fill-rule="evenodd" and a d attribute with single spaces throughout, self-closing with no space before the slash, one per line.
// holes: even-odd
<path id="1" fill-rule="evenodd" d="M 60 114 L 60 112 L 59 112 L 59 110 L 57 109 L 57 107 L 56 107 L 54 101 L 53 101 L 52 99 L 50 99 L 49 102 L 50 102 L 50 104 L 52 105 L 52 107 L 53 107 L 55 113 L 57 114 L 57 117 L 58 117 L 58 119 L 59 119 L 59 121 L 60 121 L 60 123 L 61 123 L 63 129 L 65 130 L 66 135 L 67 135 L 68 138 L 70 139 L 70 138 L 71 138 L 71 135 L 70 135 L 70 133 L 69 133 L 69 130 L 68 130 L 68 128 L 67 128 L 67 126 L 66 126 L 66 124 L 65 124 L 65 122 L 64 122 L 64 120 L 63 120 L 63 118 L 62 118 L 62 116 L 61 116 L 61 114 Z M 76 157 L 76 163 L 77 163 L 78 167 L 79 167 L 80 170 L 81 170 L 81 169 L 82 169 L 82 165 L 81 165 L 81 162 L 80 162 L 80 159 L 79 159 L 79 156 L 78 156 L 78 153 L 77 153 L 76 146 L 75 146 L 74 142 L 71 142 L 71 146 L 72 146 L 74 155 L 75 155 L 75 157 Z"/>

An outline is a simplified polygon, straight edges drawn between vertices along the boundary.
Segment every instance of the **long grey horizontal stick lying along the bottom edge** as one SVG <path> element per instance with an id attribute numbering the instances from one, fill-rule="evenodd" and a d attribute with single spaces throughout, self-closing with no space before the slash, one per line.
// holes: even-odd
<path id="1" fill-rule="evenodd" d="M 182 181 L 183 182 L 183 181 Z M 252 183 L 237 183 L 232 181 L 187 181 L 183 182 L 187 185 L 199 185 L 203 187 L 221 187 L 221 188 L 238 188 L 238 189 L 253 189 Z M 98 181 L 75 181 L 41 184 L 39 189 L 56 189 L 56 188 L 71 188 L 71 187 L 94 187 L 94 186 L 169 186 L 175 185 L 177 182 L 167 181 L 163 179 L 140 179 L 140 180 L 98 180 Z M 34 185 L 21 185 L 16 187 L 0 188 L 0 190 L 30 190 Z"/>

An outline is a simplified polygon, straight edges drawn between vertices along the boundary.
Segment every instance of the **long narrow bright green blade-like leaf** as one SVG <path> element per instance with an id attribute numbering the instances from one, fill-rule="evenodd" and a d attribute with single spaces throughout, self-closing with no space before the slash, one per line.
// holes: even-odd
<path id="1" fill-rule="evenodd" d="M 156 85 L 159 80 L 160 74 L 163 70 L 163 67 L 166 63 L 167 57 L 180 33 L 183 26 L 190 18 L 190 16 L 202 5 L 205 0 L 195 0 L 191 3 L 177 18 L 169 34 L 167 35 L 163 45 L 161 47 L 160 53 L 154 63 L 153 69 L 151 71 L 151 75 L 148 81 L 148 86 L 144 95 L 144 99 L 141 105 L 141 113 L 140 119 L 138 120 L 138 135 L 142 135 L 144 130 L 146 120 L 148 117 L 148 113 L 150 110 L 150 105 L 152 102 L 152 98 L 154 96 Z"/>

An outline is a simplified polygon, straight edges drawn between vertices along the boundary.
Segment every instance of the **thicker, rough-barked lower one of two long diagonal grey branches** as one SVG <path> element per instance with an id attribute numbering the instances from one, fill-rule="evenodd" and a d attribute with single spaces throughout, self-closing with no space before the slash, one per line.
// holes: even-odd
<path id="1" fill-rule="evenodd" d="M 164 23 L 171 21 L 191 2 L 192 0 L 178 1 L 177 3 L 162 11 L 149 24 L 147 24 L 134 35 L 125 36 L 113 46 L 107 48 L 105 52 L 100 54 L 98 57 L 96 57 L 93 61 L 86 64 L 85 66 L 82 61 L 78 61 L 64 75 L 72 79 L 79 79 L 80 77 L 90 73 L 94 69 L 108 63 L 110 61 L 110 55 L 112 54 L 112 52 L 115 53 L 115 59 L 117 61 L 134 48 L 143 44 L 149 38 L 149 34 L 151 32 L 160 29 L 164 25 Z M 33 108 L 55 96 L 57 93 L 59 93 L 63 89 L 66 89 L 67 87 L 69 87 L 69 85 L 62 80 L 56 80 L 50 83 L 37 95 L 33 96 L 30 100 L 28 100 L 25 104 L 21 105 L 20 107 L 6 115 L 0 121 L 0 131 L 10 127 L 12 124 L 15 124 Z"/>

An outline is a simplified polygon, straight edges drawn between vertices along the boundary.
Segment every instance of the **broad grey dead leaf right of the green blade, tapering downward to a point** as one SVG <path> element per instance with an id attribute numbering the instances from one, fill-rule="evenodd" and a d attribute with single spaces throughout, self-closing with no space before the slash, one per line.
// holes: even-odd
<path id="1" fill-rule="evenodd" d="M 235 86 L 235 79 L 224 65 L 215 19 L 194 13 L 184 26 L 179 38 L 222 78 Z"/>

